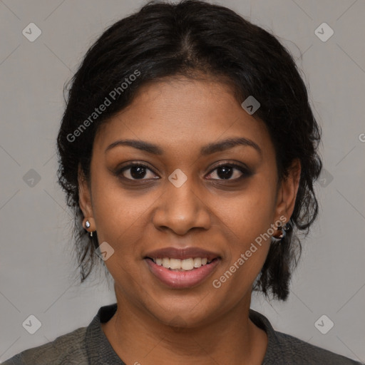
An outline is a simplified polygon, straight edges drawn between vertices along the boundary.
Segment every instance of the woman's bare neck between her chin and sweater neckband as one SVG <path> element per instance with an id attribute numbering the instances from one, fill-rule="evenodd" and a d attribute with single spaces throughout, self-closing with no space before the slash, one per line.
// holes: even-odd
<path id="1" fill-rule="evenodd" d="M 176 316 L 163 324 L 117 294 L 118 309 L 102 324 L 126 364 L 262 364 L 267 335 L 249 319 L 250 300 L 202 326 L 183 327 Z M 180 327 L 179 327 L 180 324 Z"/>

